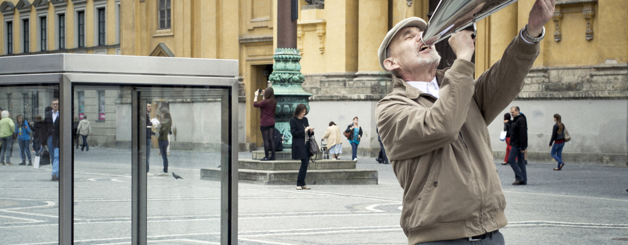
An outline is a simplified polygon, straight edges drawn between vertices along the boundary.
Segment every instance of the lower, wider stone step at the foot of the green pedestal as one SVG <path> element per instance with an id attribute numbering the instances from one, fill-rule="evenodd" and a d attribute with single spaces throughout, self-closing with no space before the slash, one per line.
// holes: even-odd
<path id="1" fill-rule="evenodd" d="M 260 185 L 295 185 L 298 170 L 252 170 L 239 169 L 238 179 L 241 183 Z M 200 170 L 200 179 L 219 180 L 220 168 Z M 365 169 L 315 169 L 308 170 L 305 177 L 306 185 L 376 185 L 377 170 Z"/>

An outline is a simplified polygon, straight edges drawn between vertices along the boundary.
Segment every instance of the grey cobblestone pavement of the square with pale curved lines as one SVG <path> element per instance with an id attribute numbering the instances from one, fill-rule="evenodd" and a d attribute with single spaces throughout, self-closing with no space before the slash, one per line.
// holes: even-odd
<path id="1" fill-rule="evenodd" d="M 12 162 L 19 163 L 14 152 Z M 220 183 L 200 180 L 218 154 L 172 151 L 169 172 L 151 152 L 149 244 L 219 244 Z M 250 158 L 250 153 L 240 157 Z M 131 152 L 92 147 L 75 152 L 75 244 L 131 243 Z M 239 244 L 407 244 L 399 227 L 403 190 L 391 165 L 359 159 L 379 171 L 378 185 L 239 185 Z M 497 163 L 509 225 L 506 244 L 628 244 L 628 168 L 530 163 L 528 185 Z M 58 182 L 50 165 L 0 166 L 0 244 L 56 244 Z M 463 205 L 463 204 L 461 204 Z"/>

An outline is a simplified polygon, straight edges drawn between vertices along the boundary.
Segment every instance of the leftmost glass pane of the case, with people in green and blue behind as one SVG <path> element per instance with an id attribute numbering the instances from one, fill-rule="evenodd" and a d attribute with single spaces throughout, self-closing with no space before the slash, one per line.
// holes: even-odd
<path id="1" fill-rule="evenodd" d="M 58 241 L 59 182 L 52 180 L 53 164 L 58 176 L 58 160 L 50 164 L 55 157 L 48 153 L 55 152 L 53 147 L 48 151 L 48 141 L 53 142 L 59 121 L 55 118 L 55 127 L 49 110 L 55 107 L 58 112 L 58 105 L 51 105 L 57 96 L 57 85 L 0 86 L 0 108 L 8 113 L 0 114 L 4 116 L 0 120 L 2 244 Z M 18 132 L 15 140 L 13 127 Z M 9 162 L 12 165 L 5 165 Z"/>

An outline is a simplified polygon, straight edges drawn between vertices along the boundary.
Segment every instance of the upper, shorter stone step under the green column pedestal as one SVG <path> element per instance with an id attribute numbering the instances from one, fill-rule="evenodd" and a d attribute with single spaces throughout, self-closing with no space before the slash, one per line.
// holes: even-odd
<path id="1" fill-rule="evenodd" d="M 354 160 L 317 160 L 316 162 L 310 162 L 308 169 L 355 169 Z M 254 169 L 254 170 L 299 170 L 301 167 L 300 160 L 274 160 L 274 161 L 260 161 L 254 159 L 240 159 L 238 160 L 239 169 Z"/>

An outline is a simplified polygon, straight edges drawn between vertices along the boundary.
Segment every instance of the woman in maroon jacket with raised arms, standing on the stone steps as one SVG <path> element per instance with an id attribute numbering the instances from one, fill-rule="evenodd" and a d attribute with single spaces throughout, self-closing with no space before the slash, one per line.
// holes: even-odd
<path id="1" fill-rule="evenodd" d="M 262 131 L 262 138 L 264 139 L 264 155 L 266 156 L 261 160 L 272 161 L 275 160 L 273 133 L 274 115 L 275 108 L 277 107 L 277 100 L 274 98 L 273 88 L 266 88 L 266 90 L 262 91 L 262 96 L 264 96 L 264 100 L 259 103 L 257 103 L 257 95 L 259 95 L 259 90 L 255 91 L 253 106 L 259 107 L 259 109 L 262 111 L 259 120 L 259 130 Z M 271 152 L 271 157 L 268 157 L 268 152 Z"/>

